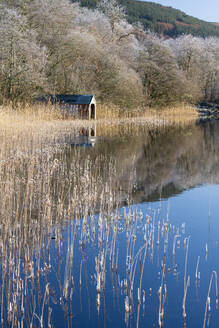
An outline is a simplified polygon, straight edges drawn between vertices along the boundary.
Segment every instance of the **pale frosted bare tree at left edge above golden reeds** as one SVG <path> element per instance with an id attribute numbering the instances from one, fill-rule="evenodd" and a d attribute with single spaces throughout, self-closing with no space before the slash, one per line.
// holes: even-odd
<path id="1" fill-rule="evenodd" d="M 31 98 L 45 87 L 47 52 L 36 38 L 26 17 L 0 6 L 1 100 Z"/>

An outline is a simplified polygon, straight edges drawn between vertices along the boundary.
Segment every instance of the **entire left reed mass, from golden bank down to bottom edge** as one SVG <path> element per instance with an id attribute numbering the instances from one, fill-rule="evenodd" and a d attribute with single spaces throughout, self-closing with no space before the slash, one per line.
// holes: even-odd
<path id="1" fill-rule="evenodd" d="M 54 260 L 48 252 L 48 236 L 55 229 L 61 249 L 61 230 L 67 221 L 86 218 L 97 209 L 111 212 L 118 204 L 111 188 L 116 183 L 113 162 L 104 156 L 82 160 L 83 151 L 68 145 L 82 122 L 72 124 L 57 120 L 53 112 L 44 115 L 41 108 L 27 109 L 0 110 L 1 327 L 23 327 L 24 322 L 28 327 L 44 327 L 45 302 L 35 305 L 32 296 L 42 292 L 44 299 L 49 298 L 49 284 L 45 291 L 38 285 Z M 71 270 L 70 259 L 68 265 Z M 68 279 L 66 274 L 60 285 L 60 294 L 66 298 Z M 48 326 L 49 322 L 48 317 Z"/>

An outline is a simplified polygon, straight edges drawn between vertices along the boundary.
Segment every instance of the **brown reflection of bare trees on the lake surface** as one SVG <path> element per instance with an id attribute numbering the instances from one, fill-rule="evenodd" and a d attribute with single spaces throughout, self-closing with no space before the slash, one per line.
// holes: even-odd
<path id="1" fill-rule="evenodd" d="M 116 160 L 121 188 L 131 191 L 133 202 L 168 198 L 198 185 L 219 183 L 218 122 L 120 133 L 99 139 L 89 156 L 101 153 Z"/>

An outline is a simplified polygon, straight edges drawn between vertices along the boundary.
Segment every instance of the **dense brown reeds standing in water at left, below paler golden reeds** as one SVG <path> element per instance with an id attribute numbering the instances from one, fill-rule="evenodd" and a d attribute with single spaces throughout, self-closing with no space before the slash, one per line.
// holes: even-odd
<path id="1" fill-rule="evenodd" d="M 86 218 L 101 207 L 102 211 L 111 211 L 117 203 L 110 188 L 114 174 L 112 163 L 106 167 L 103 182 L 98 174 L 102 158 L 95 163 L 89 159 L 80 163 L 78 154 L 65 158 L 56 146 L 43 147 L 37 153 L 26 147 L 23 151 L 29 152 L 28 157 L 8 156 L 0 168 L 1 320 L 3 326 L 12 327 L 23 326 L 26 320 L 26 325 L 32 326 L 37 318 L 40 326 L 44 326 L 45 300 L 32 299 L 32 290 L 36 292 L 41 275 L 51 268 L 54 260 L 45 249 L 54 227 L 61 230 L 70 220 Z M 61 247 L 59 229 L 55 239 Z M 70 259 L 66 263 L 65 298 Z M 48 294 L 46 284 L 45 299 Z"/>

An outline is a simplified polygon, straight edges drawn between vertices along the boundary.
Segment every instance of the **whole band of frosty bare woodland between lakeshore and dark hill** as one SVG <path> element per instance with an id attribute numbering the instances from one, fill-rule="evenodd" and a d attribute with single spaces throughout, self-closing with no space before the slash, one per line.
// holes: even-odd
<path id="1" fill-rule="evenodd" d="M 116 0 L 2 0 L 0 102 L 78 93 L 132 109 L 218 98 L 218 37 L 167 38 L 128 17 Z"/>

